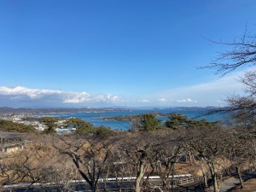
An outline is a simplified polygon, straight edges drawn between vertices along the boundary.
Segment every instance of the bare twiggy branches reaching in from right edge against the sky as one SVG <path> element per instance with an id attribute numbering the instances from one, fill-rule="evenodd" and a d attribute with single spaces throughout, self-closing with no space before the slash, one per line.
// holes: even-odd
<path id="1" fill-rule="evenodd" d="M 240 67 L 255 67 L 256 65 L 256 36 L 245 32 L 232 42 L 216 42 L 210 40 L 214 44 L 227 46 L 228 49 L 220 52 L 217 57 L 207 66 L 201 68 L 212 68 L 220 76 L 235 71 Z M 256 70 L 251 68 L 250 71 L 241 77 L 241 83 L 245 85 L 245 93 L 247 96 L 230 96 L 227 98 L 229 106 L 214 110 L 212 113 L 220 111 L 236 112 L 236 117 L 243 116 L 252 118 L 255 116 L 255 96 L 256 96 Z"/>

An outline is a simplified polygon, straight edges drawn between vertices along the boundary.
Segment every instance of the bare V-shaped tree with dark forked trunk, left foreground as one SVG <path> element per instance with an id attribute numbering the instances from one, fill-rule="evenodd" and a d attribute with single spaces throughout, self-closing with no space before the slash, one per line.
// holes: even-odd
<path id="1" fill-rule="evenodd" d="M 73 161 L 73 165 L 90 185 L 90 189 L 96 191 L 104 165 L 112 153 L 113 140 L 68 135 L 55 137 L 53 145 L 60 154 L 66 154 Z"/>

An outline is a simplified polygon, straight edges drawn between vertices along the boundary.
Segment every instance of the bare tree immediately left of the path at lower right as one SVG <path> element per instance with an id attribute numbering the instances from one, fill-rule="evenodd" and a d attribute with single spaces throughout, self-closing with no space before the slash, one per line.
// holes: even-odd
<path id="1" fill-rule="evenodd" d="M 221 127 L 198 128 L 187 132 L 187 146 L 210 170 L 214 192 L 219 192 L 220 171 L 224 168 L 224 153 L 229 148 L 228 131 Z"/>

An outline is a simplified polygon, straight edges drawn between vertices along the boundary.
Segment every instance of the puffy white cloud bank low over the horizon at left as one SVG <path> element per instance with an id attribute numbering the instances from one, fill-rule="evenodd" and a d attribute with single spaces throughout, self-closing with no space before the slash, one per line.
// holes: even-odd
<path id="1" fill-rule="evenodd" d="M 9 104 L 20 105 L 60 105 L 61 104 L 94 104 L 97 102 L 119 102 L 119 96 L 98 94 L 90 95 L 87 92 L 67 92 L 61 90 L 38 90 L 29 89 L 22 86 L 5 87 L 0 86 L 0 105 L 9 106 Z M 38 104 L 37 104 L 38 103 Z M 12 104 L 11 104 L 12 106 Z"/>

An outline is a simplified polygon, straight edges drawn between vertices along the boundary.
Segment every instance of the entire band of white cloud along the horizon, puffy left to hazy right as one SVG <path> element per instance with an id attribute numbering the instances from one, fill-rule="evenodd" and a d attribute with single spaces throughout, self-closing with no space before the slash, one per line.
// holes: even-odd
<path id="1" fill-rule="evenodd" d="M 86 91 L 72 92 L 31 89 L 24 86 L 0 86 L 0 107 L 206 107 L 209 106 L 209 103 L 211 106 L 223 106 L 224 98 L 228 94 L 241 91 L 241 84 L 236 77 L 238 74 L 233 73 L 212 82 L 163 90 L 136 99 L 115 94 L 91 94 Z"/>

